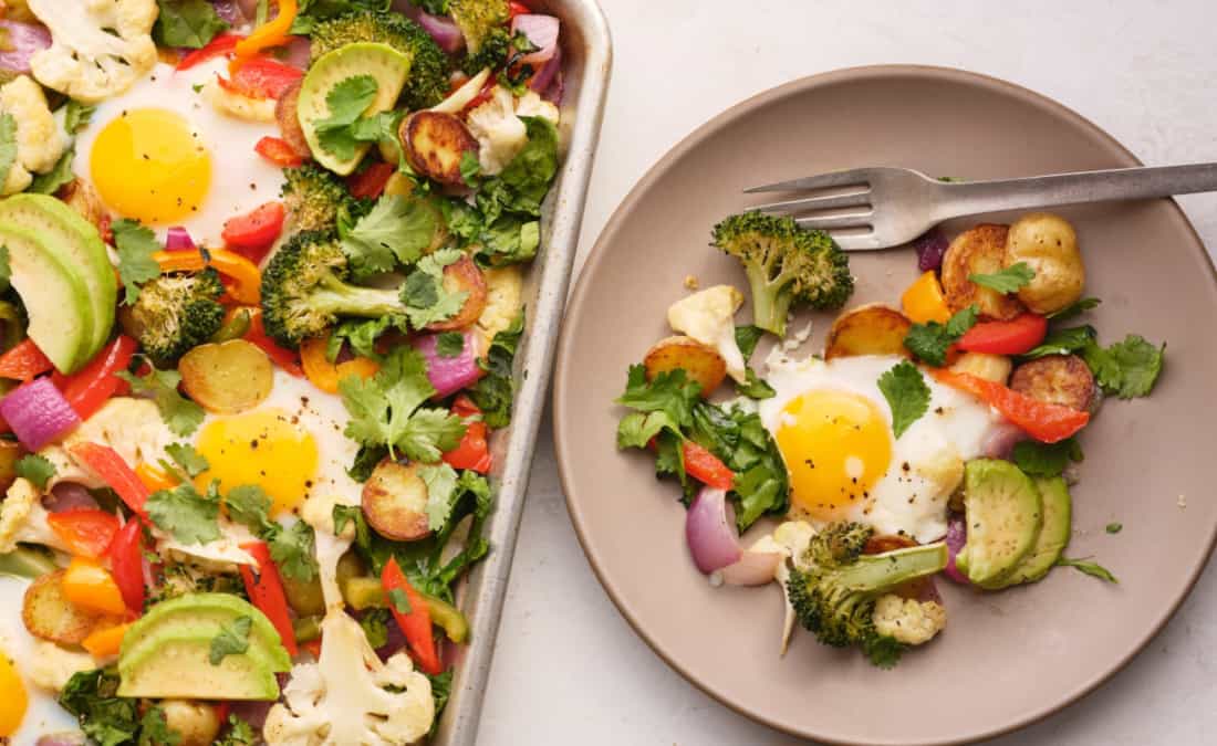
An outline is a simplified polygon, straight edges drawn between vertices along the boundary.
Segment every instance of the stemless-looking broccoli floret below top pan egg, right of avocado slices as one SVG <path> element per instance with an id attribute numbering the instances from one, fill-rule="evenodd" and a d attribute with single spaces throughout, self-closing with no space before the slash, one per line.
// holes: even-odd
<path id="1" fill-rule="evenodd" d="M 162 275 L 140 290 L 129 313 L 129 330 L 159 367 L 172 367 L 191 349 L 211 339 L 224 323 L 219 272 Z"/>

